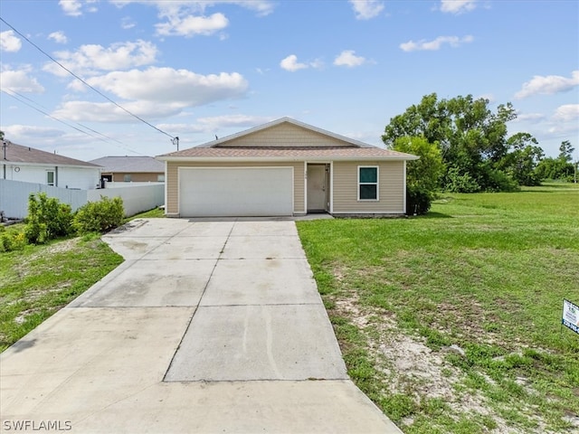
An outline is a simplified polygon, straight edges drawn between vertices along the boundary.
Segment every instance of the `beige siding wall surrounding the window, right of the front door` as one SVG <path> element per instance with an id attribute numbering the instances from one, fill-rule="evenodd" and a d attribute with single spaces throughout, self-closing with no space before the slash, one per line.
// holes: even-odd
<path id="1" fill-rule="evenodd" d="M 378 201 L 358 201 L 358 167 L 378 166 Z M 403 161 L 334 162 L 333 212 L 403 213 Z"/>

